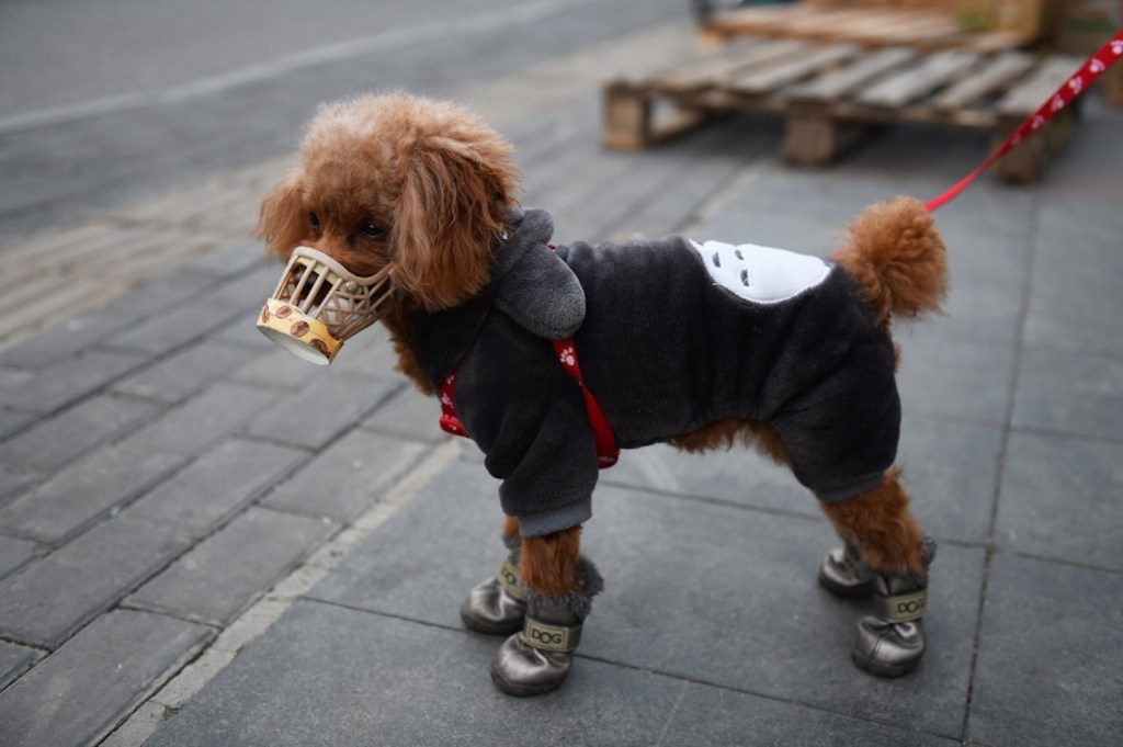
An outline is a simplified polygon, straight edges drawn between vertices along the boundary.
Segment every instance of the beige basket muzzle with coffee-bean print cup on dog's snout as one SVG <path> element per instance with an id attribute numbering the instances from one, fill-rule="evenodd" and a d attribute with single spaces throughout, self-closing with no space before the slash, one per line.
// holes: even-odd
<path id="1" fill-rule="evenodd" d="M 378 320 L 393 291 L 394 266 L 359 277 L 317 249 L 293 249 L 257 328 L 296 357 L 327 365 L 344 340 Z"/>

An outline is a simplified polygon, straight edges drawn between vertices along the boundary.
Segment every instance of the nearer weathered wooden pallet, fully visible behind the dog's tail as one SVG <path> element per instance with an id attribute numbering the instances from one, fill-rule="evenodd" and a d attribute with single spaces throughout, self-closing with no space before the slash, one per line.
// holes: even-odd
<path id="1" fill-rule="evenodd" d="M 1005 137 L 1080 62 L 1017 51 L 745 39 L 650 79 L 608 83 L 603 139 L 646 148 L 734 111 L 783 115 L 785 157 L 809 165 L 834 160 L 843 127 L 941 125 Z M 1003 160 L 999 172 L 1035 179 L 1069 129 L 1062 115 Z"/>

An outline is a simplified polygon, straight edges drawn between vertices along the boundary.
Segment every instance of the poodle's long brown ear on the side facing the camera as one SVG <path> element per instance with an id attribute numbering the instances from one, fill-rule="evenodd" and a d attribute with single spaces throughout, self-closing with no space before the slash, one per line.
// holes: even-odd
<path id="1" fill-rule="evenodd" d="M 394 281 L 427 310 L 446 309 L 487 282 L 518 172 L 512 148 L 429 138 L 410 155 L 391 236 Z"/>

